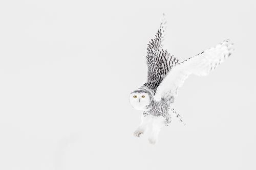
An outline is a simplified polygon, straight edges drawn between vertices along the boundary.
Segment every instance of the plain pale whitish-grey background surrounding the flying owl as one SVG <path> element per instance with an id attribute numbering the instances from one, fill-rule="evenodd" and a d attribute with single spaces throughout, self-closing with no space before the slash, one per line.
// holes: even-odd
<path id="1" fill-rule="evenodd" d="M 0 169 L 256 169 L 254 1 L 1 1 Z M 162 13 L 180 60 L 236 50 L 190 76 L 159 142 L 133 136 L 129 94 Z"/>

